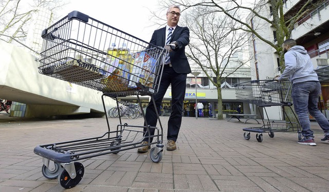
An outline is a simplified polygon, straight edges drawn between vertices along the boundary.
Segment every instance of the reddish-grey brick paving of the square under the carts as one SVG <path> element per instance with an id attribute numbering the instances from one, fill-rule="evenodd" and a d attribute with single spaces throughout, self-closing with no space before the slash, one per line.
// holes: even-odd
<path id="1" fill-rule="evenodd" d="M 3 117 L 3 118 L 2 118 Z M 242 128 L 260 126 L 226 120 L 184 117 L 176 151 L 163 150 L 159 163 L 136 148 L 81 160 L 85 173 L 74 188 L 46 179 L 40 144 L 101 136 L 105 118 L 25 120 L 0 114 L 0 191 L 329 191 L 329 144 L 312 122 L 317 146 L 297 143 L 296 132 L 267 134 L 263 142 L 243 138 Z M 160 117 L 167 135 L 168 117 Z M 122 119 L 142 125 L 142 118 Z M 109 119 L 116 129 L 118 119 Z M 167 138 L 164 137 L 164 144 Z"/>

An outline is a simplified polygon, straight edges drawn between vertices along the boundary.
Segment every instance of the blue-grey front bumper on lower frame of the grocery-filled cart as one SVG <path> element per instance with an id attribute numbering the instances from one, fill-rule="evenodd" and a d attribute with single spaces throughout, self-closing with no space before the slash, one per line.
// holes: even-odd
<path id="1" fill-rule="evenodd" d="M 33 151 L 36 155 L 49 159 L 57 163 L 69 163 L 71 162 L 70 154 L 57 153 L 52 150 L 47 150 L 41 146 L 36 146 Z"/>

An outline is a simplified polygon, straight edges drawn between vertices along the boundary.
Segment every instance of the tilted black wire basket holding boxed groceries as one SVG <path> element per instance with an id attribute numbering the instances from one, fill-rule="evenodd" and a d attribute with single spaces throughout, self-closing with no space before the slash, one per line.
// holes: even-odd
<path id="1" fill-rule="evenodd" d="M 78 11 L 43 31 L 39 72 L 109 93 L 157 92 L 166 50 Z"/>

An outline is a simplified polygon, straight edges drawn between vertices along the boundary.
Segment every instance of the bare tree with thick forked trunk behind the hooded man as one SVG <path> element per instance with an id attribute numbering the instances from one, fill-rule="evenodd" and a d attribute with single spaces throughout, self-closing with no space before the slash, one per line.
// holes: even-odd
<path id="1" fill-rule="evenodd" d="M 191 1 L 188 0 L 176 0 L 171 1 L 174 4 L 182 5 L 187 9 L 193 7 L 212 8 L 213 12 L 221 12 L 227 15 L 229 18 L 242 26 L 239 29 L 251 33 L 253 36 L 259 38 L 261 41 L 270 45 L 276 50 L 280 59 L 280 66 L 284 69 L 284 53 L 282 51 L 282 43 L 285 39 L 290 38 L 291 31 L 294 29 L 294 25 L 298 19 L 308 14 L 317 4 L 321 3 L 321 0 L 306 0 L 304 4 L 299 7 L 294 7 L 294 14 L 284 15 L 284 3 L 285 0 L 268 0 L 268 1 L 256 1 L 247 4 L 246 0 L 199 0 Z M 262 9 L 269 9 L 268 4 L 271 7 L 272 17 L 268 18 L 267 15 L 262 15 Z M 237 14 L 239 13 L 239 14 Z M 273 31 L 276 31 L 276 42 L 273 42 L 266 37 L 258 33 L 257 26 L 252 26 L 252 23 L 246 22 L 246 18 L 241 17 L 241 13 L 249 15 L 250 18 L 258 17 L 258 19 L 268 23 Z"/>

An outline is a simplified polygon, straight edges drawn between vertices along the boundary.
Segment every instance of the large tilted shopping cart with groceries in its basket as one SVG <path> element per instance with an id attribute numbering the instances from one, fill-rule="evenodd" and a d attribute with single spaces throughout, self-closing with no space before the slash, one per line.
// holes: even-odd
<path id="1" fill-rule="evenodd" d="M 134 126 L 119 122 L 111 131 L 105 109 L 104 97 L 117 102 L 118 97 L 139 96 L 158 91 L 163 72 L 163 62 L 168 51 L 106 25 L 78 11 L 45 29 L 42 33 L 43 51 L 39 72 L 41 74 L 79 84 L 103 92 L 107 132 L 99 137 L 58 142 L 36 146 L 34 153 L 43 157 L 42 173 L 48 179 L 58 178 L 64 188 L 76 186 L 83 177 L 84 167 L 79 160 L 106 154 L 117 154 L 141 145 L 146 137 L 153 162 L 160 162 L 163 151 L 163 130 L 150 125 Z M 148 124 L 141 110 L 145 124 Z M 154 136 L 144 136 L 143 129 L 155 130 Z M 141 137 L 138 137 L 138 136 Z M 151 138 L 155 138 L 153 142 Z"/>

